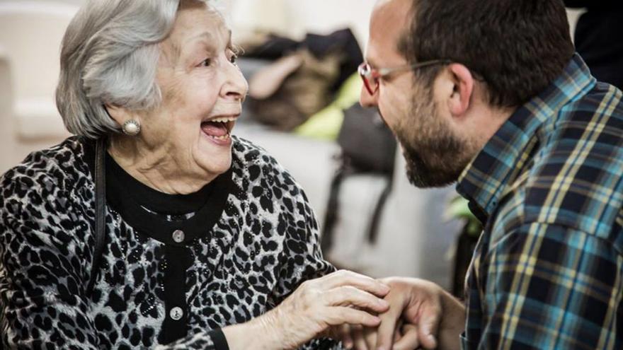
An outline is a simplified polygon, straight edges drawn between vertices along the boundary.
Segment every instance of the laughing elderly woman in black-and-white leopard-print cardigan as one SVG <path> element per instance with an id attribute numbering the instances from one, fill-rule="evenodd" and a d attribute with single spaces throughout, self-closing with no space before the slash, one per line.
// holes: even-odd
<path id="1" fill-rule="evenodd" d="M 295 349 L 378 325 L 387 286 L 327 274 L 302 190 L 232 136 L 230 36 L 196 0 L 81 8 L 57 89 L 76 136 L 0 180 L 4 346 Z"/>

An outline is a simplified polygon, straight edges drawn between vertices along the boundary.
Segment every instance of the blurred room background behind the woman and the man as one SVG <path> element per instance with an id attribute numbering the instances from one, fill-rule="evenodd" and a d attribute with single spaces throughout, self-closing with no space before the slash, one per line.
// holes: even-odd
<path id="1" fill-rule="evenodd" d="M 0 0 L 0 173 L 69 136 L 53 93 L 64 28 L 83 3 Z M 220 1 L 251 88 L 234 134 L 267 149 L 304 187 L 338 267 L 458 291 L 479 228 L 453 188 L 408 184 L 393 136 L 357 103 L 374 3 Z M 582 11 L 568 11 L 572 31 Z"/>

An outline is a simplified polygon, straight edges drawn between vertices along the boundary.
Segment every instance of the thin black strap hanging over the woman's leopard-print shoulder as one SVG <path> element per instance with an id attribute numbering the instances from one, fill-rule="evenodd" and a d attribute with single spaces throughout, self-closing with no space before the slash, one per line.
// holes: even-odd
<path id="1" fill-rule="evenodd" d="M 88 281 L 86 295 L 91 296 L 98 271 L 100 270 L 104 242 L 106 238 L 106 144 L 105 138 L 98 139 L 95 146 L 95 249 L 91 264 L 91 279 Z"/>

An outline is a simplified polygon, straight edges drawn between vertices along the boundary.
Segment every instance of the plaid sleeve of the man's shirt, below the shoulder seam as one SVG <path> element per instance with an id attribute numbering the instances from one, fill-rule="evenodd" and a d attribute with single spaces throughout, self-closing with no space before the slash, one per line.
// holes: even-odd
<path id="1" fill-rule="evenodd" d="M 479 269 L 478 348 L 620 349 L 622 265 L 612 243 L 573 228 L 530 223 L 504 235 Z"/>

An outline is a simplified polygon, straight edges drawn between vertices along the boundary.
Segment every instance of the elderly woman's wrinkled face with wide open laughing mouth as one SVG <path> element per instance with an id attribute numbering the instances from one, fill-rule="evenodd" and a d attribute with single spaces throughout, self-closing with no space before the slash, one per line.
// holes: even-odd
<path id="1" fill-rule="evenodd" d="M 156 81 L 162 102 L 142 118 L 141 136 L 154 148 L 164 146 L 182 176 L 224 173 L 248 88 L 235 64 L 230 30 L 207 5 L 181 1 L 160 49 Z"/>

